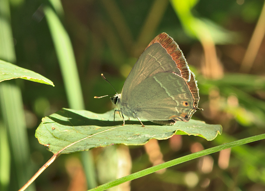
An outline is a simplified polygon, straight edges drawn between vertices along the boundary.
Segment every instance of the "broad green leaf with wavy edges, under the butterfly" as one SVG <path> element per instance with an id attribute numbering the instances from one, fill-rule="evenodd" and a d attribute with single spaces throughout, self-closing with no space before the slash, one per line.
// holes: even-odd
<path id="1" fill-rule="evenodd" d="M 122 126 L 122 118 L 118 114 L 113 126 L 113 113 L 114 110 L 97 114 L 63 108 L 42 119 L 35 137 L 53 153 L 79 141 L 61 152 L 74 153 L 114 144 L 143 145 L 150 139 L 168 139 L 174 134 L 198 135 L 213 140 L 222 132 L 221 125 L 209 125 L 197 120 L 179 121 L 175 125 L 158 125 L 142 120 L 143 127 L 137 119 L 131 119 Z"/>

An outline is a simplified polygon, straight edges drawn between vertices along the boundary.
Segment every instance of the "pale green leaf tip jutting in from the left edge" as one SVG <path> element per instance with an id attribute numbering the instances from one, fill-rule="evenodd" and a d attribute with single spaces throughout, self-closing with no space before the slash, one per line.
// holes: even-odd
<path id="1" fill-rule="evenodd" d="M 15 78 L 22 78 L 25 80 L 45 83 L 54 86 L 52 81 L 36 72 L 0 60 L 0 82 Z"/>

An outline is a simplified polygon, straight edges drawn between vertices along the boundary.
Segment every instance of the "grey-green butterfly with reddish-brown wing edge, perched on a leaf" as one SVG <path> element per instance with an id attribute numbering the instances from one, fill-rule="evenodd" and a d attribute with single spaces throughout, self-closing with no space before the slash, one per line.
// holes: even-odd
<path id="1" fill-rule="evenodd" d="M 191 119 L 198 109 L 199 91 L 178 44 L 167 33 L 160 33 L 133 66 L 122 92 L 110 99 L 122 115 L 122 125 L 124 115 L 138 118 L 143 127 L 140 118 L 173 125 Z"/>

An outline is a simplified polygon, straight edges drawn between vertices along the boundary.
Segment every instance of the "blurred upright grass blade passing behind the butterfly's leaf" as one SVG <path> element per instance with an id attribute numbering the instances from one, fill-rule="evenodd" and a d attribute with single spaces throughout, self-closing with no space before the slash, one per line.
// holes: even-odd
<path id="1" fill-rule="evenodd" d="M 81 84 L 74 58 L 74 51 L 67 31 L 64 29 L 64 26 L 59 20 L 59 17 L 54 13 L 53 9 L 48 6 L 44 7 L 44 14 L 57 53 L 69 106 L 72 109 L 85 109 Z M 93 188 L 97 185 L 94 163 L 91 155 L 91 151 L 81 153 L 89 188 Z"/>

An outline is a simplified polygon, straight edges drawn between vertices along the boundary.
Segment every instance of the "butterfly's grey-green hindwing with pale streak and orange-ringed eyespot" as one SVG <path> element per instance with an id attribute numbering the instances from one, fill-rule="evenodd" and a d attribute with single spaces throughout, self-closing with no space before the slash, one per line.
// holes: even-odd
<path id="1" fill-rule="evenodd" d="M 157 73 L 133 88 L 127 107 L 150 121 L 187 121 L 196 110 L 193 103 L 184 78 L 175 73 Z"/>

